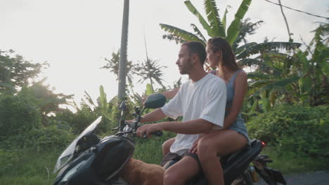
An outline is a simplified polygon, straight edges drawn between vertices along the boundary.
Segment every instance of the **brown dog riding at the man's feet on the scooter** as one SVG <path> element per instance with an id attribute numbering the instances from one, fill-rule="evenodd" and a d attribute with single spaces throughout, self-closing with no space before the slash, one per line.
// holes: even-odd
<path id="1" fill-rule="evenodd" d="M 164 169 L 160 165 L 144 163 L 131 158 L 120 172 L 129 185 L 162 185 Z"/>

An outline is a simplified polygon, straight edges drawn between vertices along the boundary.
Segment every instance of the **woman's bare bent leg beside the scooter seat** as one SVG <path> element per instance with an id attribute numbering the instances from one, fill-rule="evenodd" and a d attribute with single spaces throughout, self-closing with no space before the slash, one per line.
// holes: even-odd
<path id="1" fill-rule="evenodd" d="M 224 175 L 218 156 L 238 151 L 247 139 L 234 130 L 205 135 L 198 143 L 198 156 L 209 185 L 224 185 Z"/>

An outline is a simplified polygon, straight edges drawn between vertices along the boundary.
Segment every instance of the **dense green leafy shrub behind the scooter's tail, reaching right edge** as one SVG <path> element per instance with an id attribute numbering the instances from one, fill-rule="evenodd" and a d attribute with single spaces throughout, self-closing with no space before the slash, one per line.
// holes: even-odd
<path id="1" fill-rule="evenodd" d="M 281 105 L 247 123 L 251 138 L 297 156 L 329 157 L 328 107 Z"/>

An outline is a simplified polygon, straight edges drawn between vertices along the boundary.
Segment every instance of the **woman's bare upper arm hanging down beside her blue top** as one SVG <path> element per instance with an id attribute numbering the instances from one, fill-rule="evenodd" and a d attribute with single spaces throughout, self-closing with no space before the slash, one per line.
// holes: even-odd
<path id="1" fill-rule="evenodd" d="M 236 117 L 238 116 L 241 107 L 243 106 L 243 99 L 245 93 L 247 92 L 247 74 L 245 71 L 240 71 L 236 76 L 236 81 L 234 82 L 234 97 L 232 102 L 232 107 L 228 110 L 230 111 L 224 119 L 223 129 L 229 128 Z"/>

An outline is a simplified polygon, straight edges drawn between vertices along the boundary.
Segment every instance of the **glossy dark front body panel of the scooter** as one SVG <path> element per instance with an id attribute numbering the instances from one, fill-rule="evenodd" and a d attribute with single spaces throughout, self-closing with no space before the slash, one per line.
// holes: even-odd
<path id="1" fill-rule="evenodd" d="M 79 154 L 58 173 L 54 185 L 107 184 L 134 153 L 134 144 L 126 137 L 110 136 Z"/>

